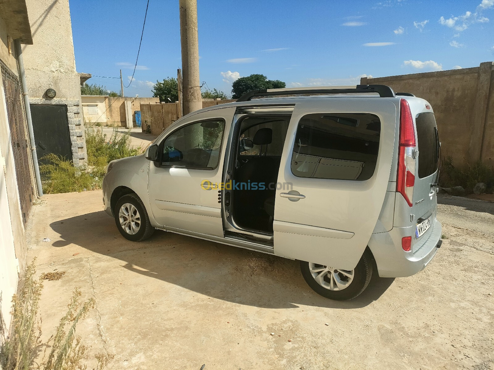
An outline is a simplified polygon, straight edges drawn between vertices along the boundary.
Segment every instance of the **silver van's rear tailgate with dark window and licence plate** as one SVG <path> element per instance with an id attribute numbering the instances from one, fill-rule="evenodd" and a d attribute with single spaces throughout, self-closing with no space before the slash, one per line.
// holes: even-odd
<path id="1" fill-rule="evenodd" d="M 413 108 L 413 106 L 412 106 Z M 415 232 L 414 245 L 420 246 L 420 239 L 426 240 L 435 222 L 437 198 L 436 185 L 439 162 L 439 138 L 436 119 L 430 110 L 415 115 L 417 150 L 415 184 L 413 189 L 412 214 L 416 223 L 421 224 Z M 426 229 L 427 228 L 427 229 Z M 413 248 L 415 250 L 416 248 Z"/>

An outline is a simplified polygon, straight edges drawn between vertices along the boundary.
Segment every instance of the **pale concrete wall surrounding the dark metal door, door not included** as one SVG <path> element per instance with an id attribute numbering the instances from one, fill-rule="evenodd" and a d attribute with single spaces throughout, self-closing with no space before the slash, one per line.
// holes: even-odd
<path id="1" fill-rule="evenodd" d="M 86 158 L 80 77 L 76 72 L 68 0 L 26 0 L 33 45 L 23 46 L 31 104 L 67 105 L 74 164 Z M 49 99 L 48 88 L 57 95 Z"/>

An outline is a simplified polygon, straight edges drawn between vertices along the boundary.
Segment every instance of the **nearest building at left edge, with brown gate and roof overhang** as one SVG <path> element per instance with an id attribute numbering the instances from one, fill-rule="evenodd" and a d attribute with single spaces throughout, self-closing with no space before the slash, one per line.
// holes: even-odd
<path id="1" fill-rule="evenodd" d="M 16 39 L 33 43 L 26 2 L 0 1 L 0 315 L 7 328 L 18 272 L 26 264 L 24 227 L 36 197 Z"/>

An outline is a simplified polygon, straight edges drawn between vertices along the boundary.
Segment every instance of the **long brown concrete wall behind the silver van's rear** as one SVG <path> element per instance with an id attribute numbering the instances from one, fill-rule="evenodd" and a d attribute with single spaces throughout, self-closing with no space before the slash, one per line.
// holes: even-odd
<path id="1" fill-rule="evenodd" d="M 494 165 L 494 66 L 361 79 L 427 100 L 436 116 L 442 156 L 457 167 L 481 160 Z"/>

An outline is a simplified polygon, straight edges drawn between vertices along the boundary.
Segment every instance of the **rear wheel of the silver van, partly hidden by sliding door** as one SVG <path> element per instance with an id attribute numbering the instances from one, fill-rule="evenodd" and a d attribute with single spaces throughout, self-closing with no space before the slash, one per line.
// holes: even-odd
<path id="1" fill-rule="evenodd" d="M 353 299 L 364 292 L 371 281 L 372 266 L 372 258 L 367 250 L 352 271 L 337 268 L 331 270 L 332 267 L 300 261 L 302 276 L 309 287 L 317 294 L 334 300 Z M 349 276 L 352 273 L 353 276 Z M 335 280 L 334 276 L 338 280 Z M 337 281 L 338 283 L 336 283 Z M 325 286 L 319 282 L 322 282 Z"/>

